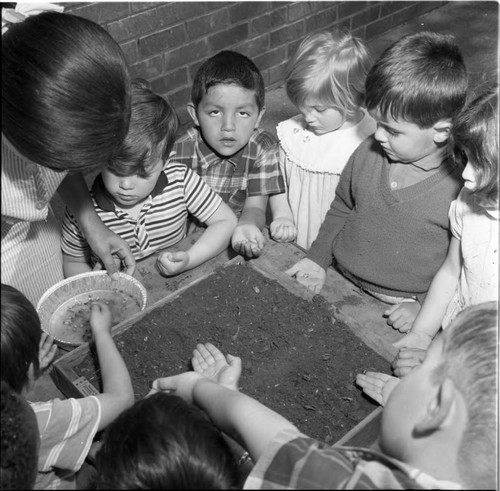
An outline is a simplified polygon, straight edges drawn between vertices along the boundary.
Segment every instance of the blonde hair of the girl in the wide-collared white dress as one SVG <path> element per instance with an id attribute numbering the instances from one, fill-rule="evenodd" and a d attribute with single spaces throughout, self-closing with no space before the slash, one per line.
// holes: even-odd
<path id="1" fill-rule="evenodd" d="M 287 62 L 286 92 L 297 108 L 313 100 L 349 117 L 363 104 L 369 69 L 366 46 L 349 32 L 309 34 Z"/>

